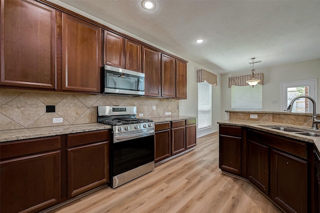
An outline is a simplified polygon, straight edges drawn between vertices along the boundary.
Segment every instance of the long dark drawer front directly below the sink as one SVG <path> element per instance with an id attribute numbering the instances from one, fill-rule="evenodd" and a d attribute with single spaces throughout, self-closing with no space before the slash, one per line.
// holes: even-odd
<path id="1" fill-rule="evenodd" d="M 258 130 L 249 129 L 247 132 L 247 138 L 254 140 L 290 154 L 307 159 L 307 143 L 293 140 L 286 137 L 265 133 Z"/>

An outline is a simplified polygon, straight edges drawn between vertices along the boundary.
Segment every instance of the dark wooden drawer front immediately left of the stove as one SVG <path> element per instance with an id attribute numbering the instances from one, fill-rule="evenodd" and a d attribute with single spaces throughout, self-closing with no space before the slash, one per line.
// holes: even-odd
<path id="1" fill-rule="evenodd" d="M 88 131 L 66 135 L 67 147 L 108 140 L 109 130 Z"/>

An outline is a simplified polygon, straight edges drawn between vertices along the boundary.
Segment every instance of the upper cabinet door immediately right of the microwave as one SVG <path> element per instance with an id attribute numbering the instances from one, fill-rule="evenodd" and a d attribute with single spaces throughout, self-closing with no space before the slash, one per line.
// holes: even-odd
<path id="1" fill-rule="evenodd" d="M 144 76 L 144 95 L 161 96 L 161 53 L 142 47 L 142 72 Z"/>

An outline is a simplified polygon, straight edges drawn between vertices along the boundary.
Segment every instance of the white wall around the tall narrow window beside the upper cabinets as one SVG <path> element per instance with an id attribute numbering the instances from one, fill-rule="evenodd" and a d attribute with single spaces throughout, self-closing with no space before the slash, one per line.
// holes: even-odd
<path id="1" fill-rule="evenodd" d="M 179 114 L 180 115 L 194 115 L 197 116 L 197 102 L 198 102 L 198 86 L 196 82 L 196 70 L 205 69 L 207 71 L 213 72 L 209 68 L 203 67 L 193 61 L 187 63 L 187 99 L 179 100 Z M 212 86 L 212 114 L 211 121 L 212 126 L 210 128 L 201 130 L 197 132 L 197 137 L 209 134 L 218 130 L 217 121 L 222 119 L 221 116 L 221 75 L 217 74 L 217 86 Z"/>

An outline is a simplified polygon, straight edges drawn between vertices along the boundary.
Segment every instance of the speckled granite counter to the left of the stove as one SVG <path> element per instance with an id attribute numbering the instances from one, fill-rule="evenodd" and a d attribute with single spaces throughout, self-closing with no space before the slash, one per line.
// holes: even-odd
<path id="1" fill-rule="evenodd" d="M 94 131 L 108 128 L 111 128 L 111 126 L 101 123 L 84 123 L 75 125 L 58 125 L 37 128 L 9 129 L 0 131 L 0 142 L 53 136 L 59 134 L 69 134 L 84 131 Z"/>

